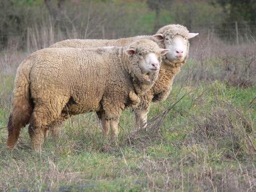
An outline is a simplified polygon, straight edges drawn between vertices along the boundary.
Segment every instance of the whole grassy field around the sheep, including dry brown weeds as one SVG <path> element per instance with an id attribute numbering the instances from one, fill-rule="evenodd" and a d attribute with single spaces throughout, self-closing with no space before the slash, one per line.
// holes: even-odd
<path id="1" fill-rule="evenodd" d="M 26 55 L 1 53 L 0 127 Z M 107 152 L 94 113 L 68 119 L 62 137 L 46 138 L 41 153 L 30 149 L 27 127 L 13 151 L 0 129 L 0 191 L 255 191 L 255 73 L 245 70 L 255 69 L 255 52 L 241 55 L 189 60 L 169 98 L 152 105 L 148 129 L 136 132 L 127 110 Z M 252 68 L 244 58 L 254 59 Z"/>

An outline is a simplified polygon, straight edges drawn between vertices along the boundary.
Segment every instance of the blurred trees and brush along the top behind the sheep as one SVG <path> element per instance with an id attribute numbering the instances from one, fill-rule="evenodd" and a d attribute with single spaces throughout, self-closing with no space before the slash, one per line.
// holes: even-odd
<path id="1" fill-rule="evenodd" d="M 244 21 L 254 27 L 256 20 L 254 0 L 1 0 L 0 7 L 1 48 L 12 37 L 25 40 L 29 27 L 51 26 L 79 38 L 118 38 L 152 34 L 169 23 L 224 29 Z"/>

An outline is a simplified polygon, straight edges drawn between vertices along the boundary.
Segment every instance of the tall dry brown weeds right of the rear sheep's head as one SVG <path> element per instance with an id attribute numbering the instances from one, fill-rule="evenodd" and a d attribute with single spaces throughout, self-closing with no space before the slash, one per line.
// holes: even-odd
<path id="1" fill-rule="evenodd" d="M 187 70 L 182 74 L 188 76 L 190 84 L 220 80 L 230 86 L 253 87 L 256 83 L 255 45 L 253 40 L 237 45 L 226 43 L 213 33 L 200 34 L 198 40 L 191 42 L 193 65 L 185 66 Z"/>

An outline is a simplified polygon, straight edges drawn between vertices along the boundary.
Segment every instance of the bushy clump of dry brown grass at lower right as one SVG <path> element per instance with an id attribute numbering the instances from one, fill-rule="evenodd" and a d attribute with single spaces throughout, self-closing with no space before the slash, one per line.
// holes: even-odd
<path id="1" fill-rule="evenodd" d="M 219 160 L 253 158 L 255 130 L 243 112 L 225 102 L 224 106 L 212 108 L 191 119 L 194 132 L 188 144 L 205 144 L 213 151 L 221 151 Z"/>

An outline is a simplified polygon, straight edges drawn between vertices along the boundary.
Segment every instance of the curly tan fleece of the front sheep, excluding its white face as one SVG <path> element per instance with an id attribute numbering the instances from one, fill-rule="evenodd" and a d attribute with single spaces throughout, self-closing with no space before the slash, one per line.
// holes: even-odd
<path id="1" fill-rule="evenodd" d="M 153 41 L 141 40 L 131 46 L 145 49 L 144 52 L 154 50 L 160 57 Z M 102 108 L 107 119 L 119 118 L 124 108 L 135 107 L 140 101 L 133 85 L 144 93 L 157 79 L 157 74 L 153 79 L 141 74 L 140 60 L 136 55 L 127 56 L 124 49 L 118 47 L 41 49 L 24 60 L 17 70 L 13 108 L 15 110 L 19 100 L 26 100 L 24 97 L 29 98 L 30 94 L 35 127 Z"/>

